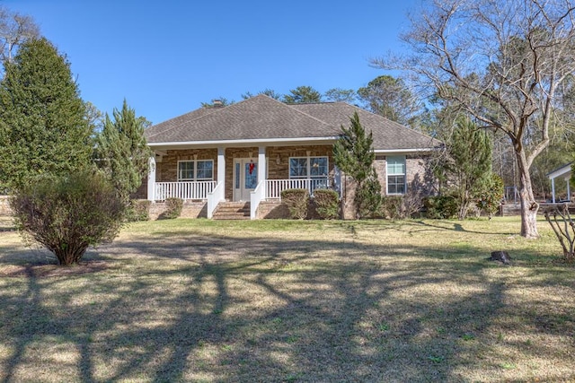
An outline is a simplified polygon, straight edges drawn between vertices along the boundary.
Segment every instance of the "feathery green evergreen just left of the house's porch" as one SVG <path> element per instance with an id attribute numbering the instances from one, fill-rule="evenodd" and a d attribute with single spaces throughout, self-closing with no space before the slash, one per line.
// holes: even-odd
<path id="1" fill-rule="evenodd" d="M 136 118 L 126 100 L 112 115 L 113 121 L 106 114 L 102 133 L 96 137 L 95 161 L 119 195 L 128 199 L 142 184 L 152 155 L 144 136 L 146 119 Z"/>

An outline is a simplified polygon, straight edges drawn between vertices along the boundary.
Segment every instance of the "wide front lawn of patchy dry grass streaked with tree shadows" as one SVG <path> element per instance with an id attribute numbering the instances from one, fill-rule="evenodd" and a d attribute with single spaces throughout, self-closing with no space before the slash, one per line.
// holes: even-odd
<path id="1" fill-rule="evenodd" d="M 0 382 L 573 381 L 575 267 L 539 228 L 138 222 L 60 269 L 0 220 Z"/>

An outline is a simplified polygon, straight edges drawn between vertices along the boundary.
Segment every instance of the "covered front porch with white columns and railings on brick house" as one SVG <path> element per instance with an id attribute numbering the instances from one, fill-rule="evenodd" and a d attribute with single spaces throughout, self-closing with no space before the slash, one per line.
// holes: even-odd
<path id="1" fill-rule="evenodd" d="M 281 192 L 339 189 L 332 145 L 155 149 L 147 183 L 153 202 L 169 197 L 205 201 L 212 218 L 225 201 L 248 202 L 257 218 L 262 201 L 280 201 Z"/>

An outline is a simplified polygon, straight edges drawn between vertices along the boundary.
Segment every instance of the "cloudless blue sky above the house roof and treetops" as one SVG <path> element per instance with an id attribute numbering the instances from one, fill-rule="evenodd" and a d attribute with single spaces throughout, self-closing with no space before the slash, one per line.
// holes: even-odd
<path id="1" fill-rule="evenodd" d="M 153 123 L 218 97 L 300 85 L 354 89 L 385 74 L 418 0 L 0 0 L 31 15 L 71 63 L 84 100 L 124 100 Z"/>

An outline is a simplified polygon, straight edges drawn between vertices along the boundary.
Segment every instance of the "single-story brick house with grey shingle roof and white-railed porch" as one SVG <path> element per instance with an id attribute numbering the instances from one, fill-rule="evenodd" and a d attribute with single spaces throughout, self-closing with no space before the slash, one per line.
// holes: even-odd
<path id="1" fill-rule="evenodd" d="M 427 157 L 439 145 L 343 102 L 286 104 L 258 95 L 230 106 L 201 108 L 146 129 L 155 152 L 147 198 L 181 197 L 211 218 L 218 205 L 242 202 L 252 219 L 270 217 L 287 188 L 339 190 L 344 218 L 353 190 L 334 165 L 332 144 L 357 112 L 373 132 L 376 170 L 385 195 L 403 196 L 426 178 Z"/>

